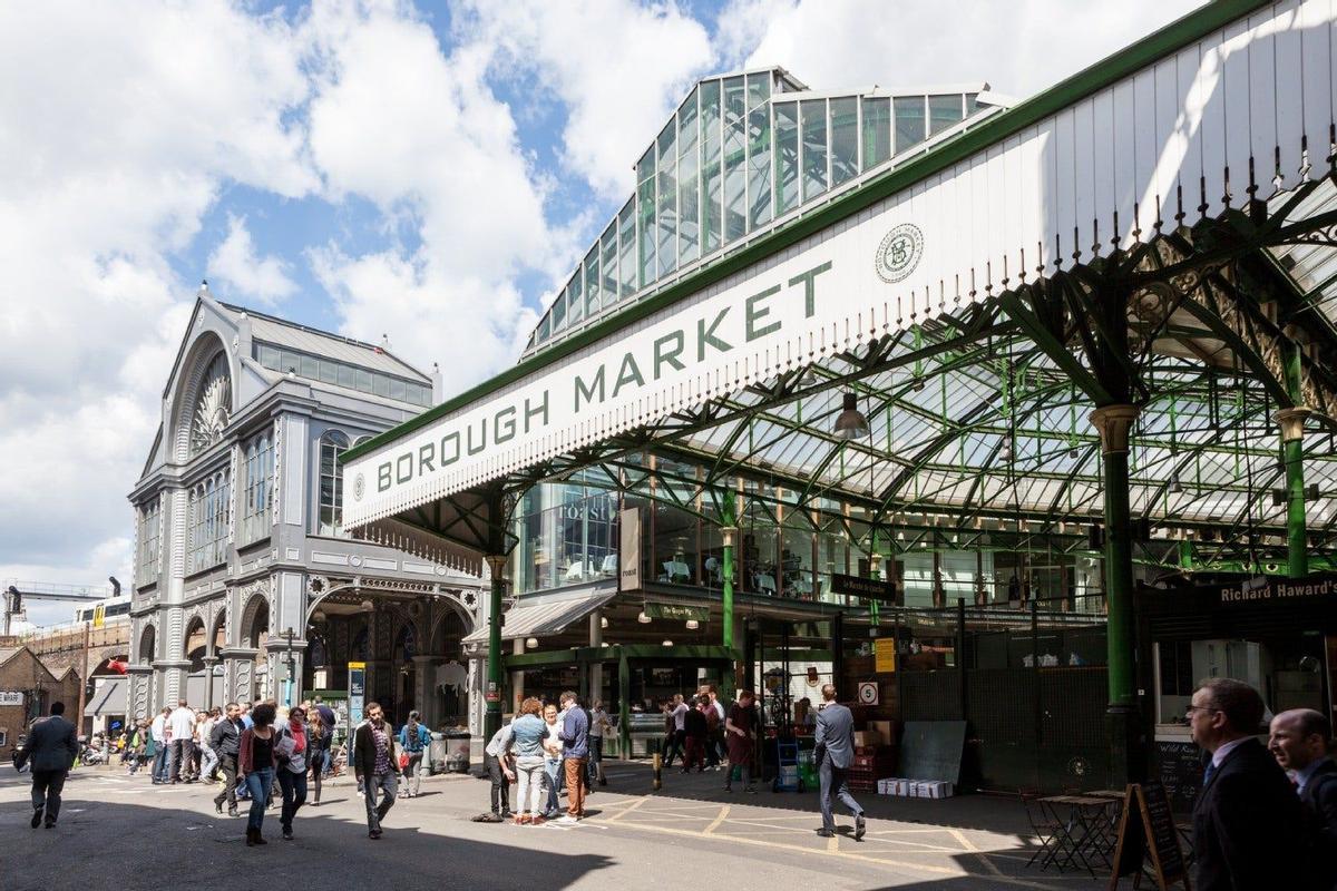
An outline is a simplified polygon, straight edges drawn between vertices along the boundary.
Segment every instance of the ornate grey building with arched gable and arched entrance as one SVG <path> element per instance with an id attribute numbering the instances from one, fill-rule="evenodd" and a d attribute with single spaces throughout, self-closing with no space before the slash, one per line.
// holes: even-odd
<path id="1" fill-rule="evenodd" d="M 365 661 L 368 699 L 396 720 L 412 707 L 476 731 L 481 667 L 460 639 L 485 622 L 485 582 L 342 533 L 330 473 L 341 449 L 437 401 L 435 378 L 201 289 L 130 493 L 128 715 L 298 701 L 346 689 L 348 663 Z"/>

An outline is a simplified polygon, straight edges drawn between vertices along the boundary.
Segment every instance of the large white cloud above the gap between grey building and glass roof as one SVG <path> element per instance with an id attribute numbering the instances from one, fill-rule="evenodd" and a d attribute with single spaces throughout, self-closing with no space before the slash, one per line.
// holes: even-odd
<path id="1" fill-rule="evenodd" d="M 483 80 L 487 48 L 447 53 L 389 4 L 321 5 L 310 29 L 321 60 L 310 151 L 329 194 L 370 199 L 421 242 L 329 246 L 312 251 L 313 270 L 348 334 L 388 334 L 400 355 L 440 362 L 447 393 L 463 390 L 509 365 L 533 325 L 516 275 L 559 269 L 575 242 L 548 226 L 545 180 Z"/>

